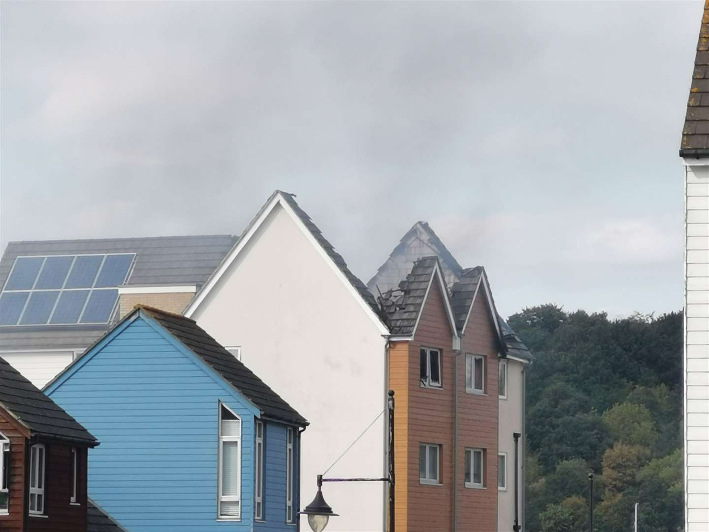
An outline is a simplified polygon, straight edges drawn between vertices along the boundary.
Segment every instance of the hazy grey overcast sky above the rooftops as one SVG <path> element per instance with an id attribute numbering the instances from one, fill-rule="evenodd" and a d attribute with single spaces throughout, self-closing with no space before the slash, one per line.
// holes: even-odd
<path id="1" fill-rule="evenodd" d="M 504 316 L 680 309 L 702 5 L 4 1 L 1 247 L 284 189 L 364 282 L 425 220 Z"/>

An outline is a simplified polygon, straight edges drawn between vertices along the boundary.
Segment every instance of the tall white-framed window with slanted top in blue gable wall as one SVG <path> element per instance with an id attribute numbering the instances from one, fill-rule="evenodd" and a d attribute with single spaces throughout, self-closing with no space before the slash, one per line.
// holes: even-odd
<path id="1" fill-rule="evenodd" d="M 241 517 L 241 420 L 219 406 L 219 519 Z"/>

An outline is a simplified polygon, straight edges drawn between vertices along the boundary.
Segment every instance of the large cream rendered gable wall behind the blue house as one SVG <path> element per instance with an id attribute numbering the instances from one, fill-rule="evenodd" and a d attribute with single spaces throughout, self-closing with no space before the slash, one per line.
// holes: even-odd
<path id="1" fill-rule="evenodd" d="M 385 340 L 296 222 L 277 205 L 191 316 L 310 421 L 302 436 L 301 504 L 385 407 Z M 385 426 L 374 426 L 328 472 L 384 477 Z M 266 443 L 268 445 L 268 442 Z M 328 532 L 381 531 L 384 482 L 326 483 Z M 301 530 L 309 530 L 306 520 Z"/>

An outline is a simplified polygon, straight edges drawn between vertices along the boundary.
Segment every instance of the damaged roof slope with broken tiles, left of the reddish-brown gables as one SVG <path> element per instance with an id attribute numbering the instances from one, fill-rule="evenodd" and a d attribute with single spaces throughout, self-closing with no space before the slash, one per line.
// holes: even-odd
<path id="1" fill-rule="evenodd" d="M 387 290 L 379 297 L 391 334 L 408 336 L 413 333 L 437 262 L 437 257 L 421 257 L 414 262 L 406 279 L 399 283 L 398 290 Z M 447 297 L 447 294 L 443 295 Z"/>

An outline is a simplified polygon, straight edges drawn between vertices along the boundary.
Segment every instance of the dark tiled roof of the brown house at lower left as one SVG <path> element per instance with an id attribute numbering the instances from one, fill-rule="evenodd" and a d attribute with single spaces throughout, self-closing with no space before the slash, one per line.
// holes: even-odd
<path id="1" fill-rule="evenodd" d="M 83 443 L 89 447 L 99 445 L 89 431 L 4 358 L 0 358 L 0 406 L 27 426 L 33 435 Z"/>

